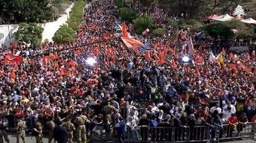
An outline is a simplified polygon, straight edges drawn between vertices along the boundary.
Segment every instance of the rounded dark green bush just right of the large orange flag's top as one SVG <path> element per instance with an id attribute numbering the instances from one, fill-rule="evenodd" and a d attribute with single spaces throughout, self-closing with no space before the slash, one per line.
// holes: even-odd
<path id="1" fill-rule="evenodd" d="M 147 16 L 137 18 L 133 20 L 133 23 L 135 25 L 137 33 L 139 34 L 142 34 L 145 29 L 151 29 L 154 26 L 154 20 Z"/>

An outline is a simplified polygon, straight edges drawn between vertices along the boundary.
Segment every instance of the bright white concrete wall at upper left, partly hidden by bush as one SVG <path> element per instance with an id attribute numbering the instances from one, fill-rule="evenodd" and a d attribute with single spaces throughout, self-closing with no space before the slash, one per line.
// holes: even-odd
<path id="1" fill-rule="evenodd" d="M 43 38 L 44 40 L 53 41 L 53 35 L 59 29 L 61 25 L 65 25 L 69 19 L 69 13 L 72 10 L 74 3 L 72 3 L 66 10 L 62 16 L 59 17 L 54 22 L 47 23 L 39 23 L 38 25 L 44 28 Z M 0 25 L 0 47 L 6 44 L 6 46 L 10 46 L 11 42 L 14 40 L 14 33 L 19 28 L 19 25 Z"/>

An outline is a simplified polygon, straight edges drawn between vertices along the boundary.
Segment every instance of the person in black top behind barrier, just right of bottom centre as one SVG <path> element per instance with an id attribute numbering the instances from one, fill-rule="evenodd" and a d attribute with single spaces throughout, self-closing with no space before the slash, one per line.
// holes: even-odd
<path id="1" fill-rule="evenodd" d="M 146 114 L 142 115 L 139 120 L 138 126 L 141 127 L 142 141 L 148 141 L 148 124 L 149 120 Z"/>

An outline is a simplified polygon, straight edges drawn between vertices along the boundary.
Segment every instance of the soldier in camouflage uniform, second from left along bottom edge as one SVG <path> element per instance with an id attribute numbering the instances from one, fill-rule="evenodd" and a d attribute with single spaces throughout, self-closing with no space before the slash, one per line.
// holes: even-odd
<path id="1" fill-rule="evenodd" d="M 23 140 L 23 143 L 26 142 L 26 121 L 19 119 L 17 123 L 17 143 L 20 143 L 20 139 Z"/>

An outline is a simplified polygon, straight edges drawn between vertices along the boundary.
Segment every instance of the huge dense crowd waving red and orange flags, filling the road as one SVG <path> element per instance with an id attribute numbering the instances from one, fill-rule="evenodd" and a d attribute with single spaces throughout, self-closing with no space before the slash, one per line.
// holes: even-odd
<path id="1" fill-rule="evenodd" d="M 65 142 L 86 142 L 87 136 L 99 136 L 103 130 L 106 139 L 114 135 L 118 142 L 123 142 L 126 131 L 131 140 L 147 141 L 151 136 L 154 141 L 169 141 L 174 132 L 176 141 L 194 140 L 198 135 L 188 129 L 197 126 L 209 129 L 206 135 L 202 132 L 202 139 L 215 139 L 215 126 L 221 128 L 220 137 L 232 137 L 235 127 L 239 136 L 248 121 L 256 121 L 255 53 L 235 55 L 223 49 L 214 56 L 209 37 L 162 23 L 162 15 L 167 15 L 154 8 L 145 11 L 157 28 L 170 32 L 163 37 L 139 36 L 151 44 L 148 52 L 128 48 L 115 36 L 113 23 L 119 12 L 112 0 L 84 9 L 75 43 L 2 49 L 4 55 L 20 55 L 24 64 L 1 66 L 0 124 L 5 126 L 0 138 L 9 129 L 19 130 L 19 142 L 23 131 L 33 132 L 41 142 L 43 130 L 48 130 L 50 143 L 59 133 L 54 132 L 56 124 L 65 127 L 59 127 L 66 130 Z M 178 37 L 169 41 L 174 32 Z M 186 46 L 190 37 L 193 53 Z M 188 52 L 193 60 L 184 63 L 180 59 Z"/>

